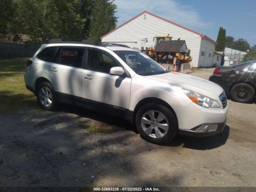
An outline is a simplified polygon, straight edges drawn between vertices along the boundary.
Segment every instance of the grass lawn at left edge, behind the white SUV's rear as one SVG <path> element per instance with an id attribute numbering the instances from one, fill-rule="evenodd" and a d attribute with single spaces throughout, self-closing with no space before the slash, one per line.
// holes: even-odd
<path id="1" fill-rule="evenodd" d="M 0 60 L 0 113 L 35 105 L 36 97 L 26 89 L 24 72 L 29 58 Z"/>

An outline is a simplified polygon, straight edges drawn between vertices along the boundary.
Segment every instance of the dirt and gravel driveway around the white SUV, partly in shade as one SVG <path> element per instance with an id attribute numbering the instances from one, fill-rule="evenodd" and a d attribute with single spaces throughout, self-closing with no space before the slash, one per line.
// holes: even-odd
<path id="1" fill-rule="evenodd" d="M 211 70 L 192 73 L 208 79 Z M 0 186 L 256 186 L 256 100 L 228 100 L 224 131 L 176 136 L 168 146 L 140 138 L 129 122 L 61 106 L 0 116 Z M 84 129 L 114 125 L 110 133 Z"/>

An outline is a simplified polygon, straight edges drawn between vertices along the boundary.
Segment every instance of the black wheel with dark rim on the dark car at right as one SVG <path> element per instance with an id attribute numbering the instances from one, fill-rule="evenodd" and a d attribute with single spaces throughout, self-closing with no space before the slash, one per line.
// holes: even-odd
<path id="1" fill-rule="evenodd" d="M 231 89 L 231 97 L 236 102 L 250 102 L 255 95 L 254 88 L 245 83 L 238 83 Z"/>

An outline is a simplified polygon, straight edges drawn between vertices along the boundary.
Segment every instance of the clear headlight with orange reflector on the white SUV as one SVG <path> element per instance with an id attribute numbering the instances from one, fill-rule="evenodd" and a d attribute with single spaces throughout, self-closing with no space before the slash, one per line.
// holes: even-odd
<path id="1" fill-rule="evenodd" d="M 182 88 L 184 93 L 192 100 L 192 102 L 206 108 L 215 107 L 220 108 L 220 104 L 214 99 L 204 96 L 203 94 L 184 89 Z"/>

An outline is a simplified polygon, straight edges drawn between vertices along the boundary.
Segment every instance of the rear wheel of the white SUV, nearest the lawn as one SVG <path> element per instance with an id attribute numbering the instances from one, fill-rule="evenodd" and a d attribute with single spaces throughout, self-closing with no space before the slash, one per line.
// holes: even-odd
<path id="1" fill-rule="evenodd" d="M 44 110 L 54 110 L 56 107 L 56 96 L 52 84 L 42 82 L 37 89 L 37 100 Z"/>

